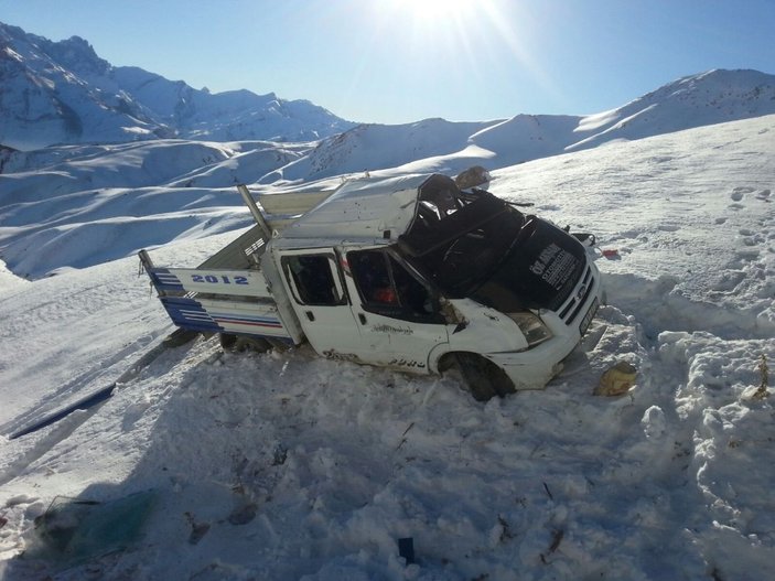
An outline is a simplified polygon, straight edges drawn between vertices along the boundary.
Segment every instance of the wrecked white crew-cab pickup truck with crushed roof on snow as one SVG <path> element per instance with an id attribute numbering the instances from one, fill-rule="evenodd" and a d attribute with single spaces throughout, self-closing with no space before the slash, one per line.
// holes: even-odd
<path id="1" fill-rule="evenodd" d="M 268 194 L 194 269 L 141 260 L 172 321 L 227 346 L 308 341 L 323 357 L 455 368 L 480 400 L 541 388 L 602 300 L 577 237 L 439 174 Z"/>

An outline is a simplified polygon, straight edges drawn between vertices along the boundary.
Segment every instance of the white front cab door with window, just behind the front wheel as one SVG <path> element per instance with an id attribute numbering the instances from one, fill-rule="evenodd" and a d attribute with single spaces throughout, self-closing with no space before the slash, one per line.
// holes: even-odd
<path id="1" fill-rule="evenodd" d="M 347 252 L 346 283 L 360 331 L 362 358 L 427 372 L 431 349 L 448 343 L 446 321 L 419 277 L 386 249 Z"/>

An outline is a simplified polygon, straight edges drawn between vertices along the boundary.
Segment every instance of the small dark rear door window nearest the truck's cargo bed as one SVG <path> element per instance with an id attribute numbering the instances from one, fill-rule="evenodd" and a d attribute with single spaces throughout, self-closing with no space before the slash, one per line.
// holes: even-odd
<path id="1" fill-rule="evenodd" d="M 301 304 L 343 304 L 344 295 L 334 280 L 333 257 L 327 255 L 287 256 L 282 263 L 293 291 Z"/>

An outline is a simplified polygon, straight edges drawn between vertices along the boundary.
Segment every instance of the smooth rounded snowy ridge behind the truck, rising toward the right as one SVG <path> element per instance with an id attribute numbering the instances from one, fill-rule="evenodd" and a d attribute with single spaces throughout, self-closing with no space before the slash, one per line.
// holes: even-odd
<path id="1" fill-rule="evenodd" d="M 481 123 L 429 119 L 400 126 L 358 126 L 323 140 L 304 160 L 278 170 L 265 182 L 280 175 L 288 180 L 315 179 L 365 168 L 392 168 L 431 157 L 442 172 L 462 171 L 476 159 L 486 160 L 487 168 L 496 169 L 620 139 L 643 139 L 772 114 L 775 75 L 710 71 L 595 115 L 517 115 Z M 420 137 L 422 133 L 424 138 Z"/>

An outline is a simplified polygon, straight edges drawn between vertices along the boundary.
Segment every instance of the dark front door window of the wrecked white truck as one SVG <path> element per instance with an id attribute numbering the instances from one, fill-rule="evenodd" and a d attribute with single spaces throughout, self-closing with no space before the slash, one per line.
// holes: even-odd
<path id="1" fill-rule="evenodd" d="M 347 262 L 364 309 L 410 321 L 438 319 L 428 288 L 387 252 L 348 252 Z"/>

